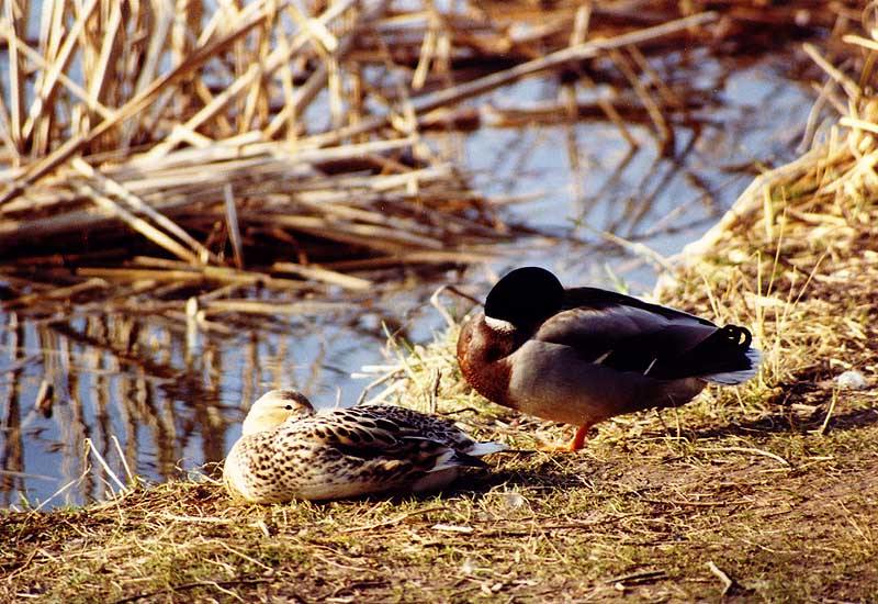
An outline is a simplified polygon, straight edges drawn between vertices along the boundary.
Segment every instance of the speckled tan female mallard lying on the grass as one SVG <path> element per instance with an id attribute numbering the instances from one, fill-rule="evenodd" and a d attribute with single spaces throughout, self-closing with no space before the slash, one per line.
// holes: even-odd
<path id="1" fill-rule="evenodd" d="M 304 394 L 272 390 L 254 403 L 223 468 L 248 503 L 333 500 L 441 489 L 464 466 L 500 451 L 453 422 L 390 405 L 315 412 Z"/>

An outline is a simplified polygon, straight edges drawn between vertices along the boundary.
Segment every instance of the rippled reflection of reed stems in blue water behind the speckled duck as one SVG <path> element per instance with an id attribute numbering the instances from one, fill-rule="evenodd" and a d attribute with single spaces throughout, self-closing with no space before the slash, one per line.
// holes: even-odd
<path id="1" fill-rule="evenodd" d="M 189 333 L 161 314 L 0 317 L 3 506 L 82 504 L 117 490 L 116 477 L 164 481 L 219 461 L 268 388 L 352 404 L 353 387 L 341 394 L 326 382 L 346 385 L 336 365 L 374 360 L 383 343 L 381 318 L 370 313 Z"/>

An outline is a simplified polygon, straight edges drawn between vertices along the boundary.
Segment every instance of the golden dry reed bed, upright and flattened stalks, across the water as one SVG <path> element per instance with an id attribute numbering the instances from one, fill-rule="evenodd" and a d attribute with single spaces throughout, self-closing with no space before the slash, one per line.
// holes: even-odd
<path id="1" fill-rule="evenodd" d="M 470 188 L 428 128 L 563 109 L 607 116 L 634 144 L 624 112 L 666 146 L 709 98 L 663 81 L 648 58 L 680 44 L 756 49 L 768 44 L 756 33 L 855 14 L 855 3 L 678 4 L 9 2 L 4 307 L 45 314 L 121 290 L 168 298 L 176 284 L 178 299 L 199 292 L 218 313 L 270 313 L 218 299 L 255 284 L 361 291 L 370 271 L 488 259 L 491 244 L 527 228 Z M 588 107 L 465 102 L 570 70 L 622 92 Z"/>

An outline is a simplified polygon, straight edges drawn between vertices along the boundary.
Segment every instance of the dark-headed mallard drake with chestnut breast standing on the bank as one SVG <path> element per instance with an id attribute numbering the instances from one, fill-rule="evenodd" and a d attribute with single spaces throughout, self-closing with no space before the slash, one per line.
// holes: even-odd
<path id="1" fill-rule="evenodd" d="M 500 405 L 588 428 L 644 409 L 689 402 L 707 384 L 756 373 L 750 332 L 596 288 L 564 289 L 538 267 L 509 272 L 463 325 L 466 381 Z"/>

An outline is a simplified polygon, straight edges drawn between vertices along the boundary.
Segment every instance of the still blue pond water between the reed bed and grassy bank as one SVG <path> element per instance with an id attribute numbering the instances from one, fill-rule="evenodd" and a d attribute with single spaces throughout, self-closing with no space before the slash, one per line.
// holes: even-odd
<path id="1" fill-rule="evenodd" d="M 493 127 L 488 119 L 472 133 L 430 135 L 435 152 L 469 170 L 503 215 L 555 236 L 507 245 L 505 260 L 201 332 L 167 316 L 93 309 L 71 309 L 64 321 L 0 314 L 0 505 L 79 505 L 117 489 L 114 476 L 162 481 L 218 461 L 250 402 L 273 387 L 295 387 L 318 405 L 353 404 L 368 380 L 351 373 L 386 360 L 387 331 L 428 342 L 441 328 L 427 299 L 443 281 L 482 298 L 508 267 L 540 264 L 567 283 L 648 291 L 655 255 L 707 231 L 747 186 L 754 163 L 793 157 L 813 98 L 786 78 L 787 67 L 784 56 L 733 68 L 706 56 L 683 77 L 698 78 L 709 102 L 674 125 L 665 156 L 649 123 L 627 124 L 635 148 L 606 120 Z M 475 104 L 491 118 L 561 92 L 529 80 Z M 36 405 L 47 387 L 52 403 Z"/>

